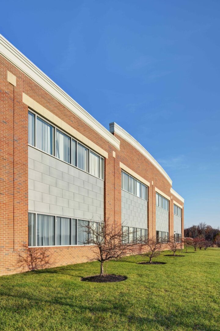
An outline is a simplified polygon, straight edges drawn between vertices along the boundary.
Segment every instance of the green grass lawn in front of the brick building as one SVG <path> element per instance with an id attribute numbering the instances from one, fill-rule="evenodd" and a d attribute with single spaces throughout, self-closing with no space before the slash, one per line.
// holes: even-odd
<path id="1" fill-rule="evenodd" d="M 99 262 L 2 276 L 0 330 L 220 330 L 220 249 L 165 254 L 108 262 L 118 283 L 80 281 Z"/>

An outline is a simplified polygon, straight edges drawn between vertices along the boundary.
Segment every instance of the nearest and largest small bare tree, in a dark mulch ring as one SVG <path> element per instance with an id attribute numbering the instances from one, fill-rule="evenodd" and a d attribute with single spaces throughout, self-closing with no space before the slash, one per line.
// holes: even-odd
<path id="1" fill-rule="evenodd" d="M 85 227 L 87 238 L 84 245 L 91 245 L 93 257 L 88 257 L 89 261 L 99 261 L 100 276 L 104 276 L 104 263 L 109 260 L 118 260 L 126 255 L 132 254 L 135 250 L 136 242 L 130 242 L 129 233 L 123 231 L 122 226 L 106 222 L 90 221 Z"/>

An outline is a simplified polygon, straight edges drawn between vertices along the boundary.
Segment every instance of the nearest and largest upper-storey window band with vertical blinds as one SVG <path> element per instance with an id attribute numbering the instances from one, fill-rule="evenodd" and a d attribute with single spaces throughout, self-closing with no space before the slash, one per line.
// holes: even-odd
<path id="1" fill-rule="evenodd" d="M 104 179 L 104 159 L 43 118 L 28 111 L 28 144 Z"/>

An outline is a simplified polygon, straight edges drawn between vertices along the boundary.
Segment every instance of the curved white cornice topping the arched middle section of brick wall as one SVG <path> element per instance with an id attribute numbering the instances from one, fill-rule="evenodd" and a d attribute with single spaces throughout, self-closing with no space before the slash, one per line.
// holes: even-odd
<path id="1" fill-rule="evenodd" d="M 147 152 L 147 150 L 141 146 L 141 144 L 133 138 L 127 131 L 122 129 L 118 124 L 112 122 L 109 124 L 110 132 L 115 132 L 120 137 L 122 137 L 124 140 L 129 142 L 132 146 L 134 146 L 139 152 L 141 152 L 168 180 L 168 182 L 172 185 L 172 180 L 166 173 L 166 171 L 162 168 L 162 166 L 159 165 L 159 163 L 150 155 L 150 153 Z"/>

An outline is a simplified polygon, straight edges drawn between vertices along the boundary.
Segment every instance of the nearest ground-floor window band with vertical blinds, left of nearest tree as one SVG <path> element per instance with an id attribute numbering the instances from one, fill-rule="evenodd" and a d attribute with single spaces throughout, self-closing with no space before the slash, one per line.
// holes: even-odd
<path id="1" fill-rule="evenodd" d="M 76 218 L 28 213 L 28 246 L 84 245 L 88 242 L 87 226 L 101 222 Z"/>

